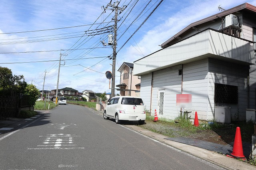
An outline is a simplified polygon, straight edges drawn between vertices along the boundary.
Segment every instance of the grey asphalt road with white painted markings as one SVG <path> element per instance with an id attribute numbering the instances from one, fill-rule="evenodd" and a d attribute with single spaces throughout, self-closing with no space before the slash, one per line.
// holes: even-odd
<path id="1" fill-rule="evenodd" d="M 67 168 L 221 169 L 77 105 L 60 105 L 0 140 L 0 169 Z"/>

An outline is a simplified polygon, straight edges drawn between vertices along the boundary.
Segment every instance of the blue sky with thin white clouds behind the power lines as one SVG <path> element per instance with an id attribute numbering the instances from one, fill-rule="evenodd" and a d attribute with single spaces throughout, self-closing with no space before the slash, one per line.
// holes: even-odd
<path id="1" fill-rule="evenodd" d="M 128 5 L 129 2 L 130 4 L 124 12 L 118 15 L 118 19 L 120 19 L 118 26 L 122 21 L 124 21 L 124 23 L 118 29 L 117 38 L 122 35 L 122 32 L 124 32 L 130 23 L 142 11 L 144 6 L 146 6 L 146 4 L 148 4 L 148 6 L 142 13 L 141 17 L 132 24 L 128 31 L 118 40 L 117 50 L 120 49 L 124 42 L 138 28 L 159 1 L 160 0 L 152 0 L 148 4 L 149 0 L 139 0 L 131 12 L 130 9 L 136 0 L 120 1 L 121 5 Z M 101 7 L 106 6 L 109 2 L 110 0 L 2 0 L 0 6 L 0 33 L 89 25 L 93 24 L 95 21 L 96 23 L 101 23 L 105 19 L 105 22 L 110 22 L 112 21 L 111 19 L 114 16 L 114 12 L 106 10 L 106 13 L 100 15 L 102 13 Z M 256 0 L 164 0 L 161 6 L 154 12 L 154 14 L 152 14 L 140 30 L 136 32 L 133 38 L 130 39 L 130 41 L 118 52 L 116 75 L 120 76 L 117 69 L 123 62 L 132 63 L 133 61 L 160 49 L 159 45 L 161 43 L 168 40 L 190 23 L 220 12 L 218 10 L 219 5 L 221 5 L 222 8 L 229 9 L 245 2 L 256 6 Z M 128 12 L 130 12 L 130 14 L 126 20 L 124 20 Z M 107 17 L 109 14 L 110 16 Z M 100 18 L 96 20 L 99 16 Z M 81 36 L 84 34 L 84 31 L 88 29 L 94 30 L 97 27 L 104 28 L 112 24 L 113 23 L 110 22 L 93 25 L 91 28 L 90 26 L 81 26 L 40 32 L 0 34 L 0 53 L 59 50 L 40 53 L 0 54 L 0 63 L 58 60 L 60 57 L 60 49 L 70 48 L 79 48 L 80 50 L 62 51 L 62 53 L 68 54 L 66 56 L 62 56 L 64 59 L 108 56 L 112 54 L 112 48 L 110 46 L 102 48 L 104 46 L 100 41 L 106 41 L 107 39 L 105 37 L 109 33 L 95 36 L 83 36 L 82 38 Z M 64 38 L 63 36 L 76 38 L 62 39 Z M 38 39 L 46 38 L 61 40 L 27 43 L 28 40 L 40 41 Z M 76 43 L 77 41 L 78 43 Z M 78 45 L 80 42 L 82 43 Z M 74 46 L 72 47 L 72 45 Z M 92 47 L 101 48 L 86 49 Z M 108 89 L 109 80 L 106 79 L 103 73 L 106 71 L 112 71 L 112 66 L 110 65 L 112 64 L 112 60 L 106 58 L 102 61 L 102 59 L 104 58 L 66 61 L 65 65 L 62 65 L 60 68 L 59 88 L 72 87 L 78 91 L 92 90 L 102 93 L 104 91 L 110 92 L 111 90 Z M 64 61 L 62 61 L 62 64 L 64 64 Z M 56 89 L 58 61 L 0 64 L 0 66 L 12 69 L 12 72 L 15 75 L 24 75 L 26 82 L 32 82 L 40 90 L 42 90 L 44 71 L 46 70 L 47 73 L 44 89 Z M 90 69 L 95 71 L 86 69 L 85 67 L 90 67 Z M 119 84 L 119 82 L 120 77 L 116 77 L 116 85 Z"/>

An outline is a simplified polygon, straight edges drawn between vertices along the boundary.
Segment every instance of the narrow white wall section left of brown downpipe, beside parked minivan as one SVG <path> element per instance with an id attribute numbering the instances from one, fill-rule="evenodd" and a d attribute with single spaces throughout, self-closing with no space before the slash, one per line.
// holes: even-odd
<path id="1" fill-rule="evenodd" d="M 146 111 L 150 111 L 151 77 L 152 73 L 145 74 L 141 76 L 140 82 L 140 97 L 142 98 Z"/>

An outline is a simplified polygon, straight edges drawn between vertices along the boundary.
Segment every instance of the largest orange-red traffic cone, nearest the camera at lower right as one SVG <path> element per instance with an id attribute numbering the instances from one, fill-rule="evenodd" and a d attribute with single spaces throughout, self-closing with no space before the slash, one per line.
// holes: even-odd
<path id="1" fill-rule="evenodd" d="M 240 127 L 236 127 L 236 135 L 235 135 L 235 141 L 233 146 L 233 152 L 231 154 L 227 154 L 226 156 L 231 158 L 239 158 L 242 160 L 246 160 L 243 152 Z"/>

